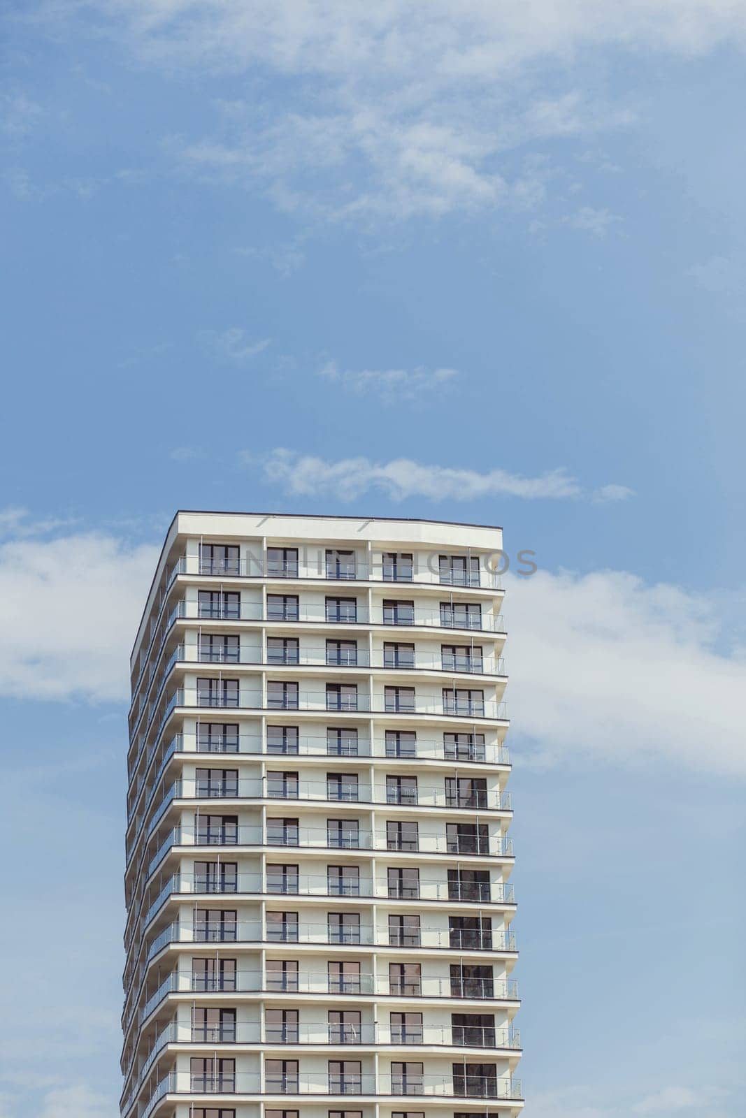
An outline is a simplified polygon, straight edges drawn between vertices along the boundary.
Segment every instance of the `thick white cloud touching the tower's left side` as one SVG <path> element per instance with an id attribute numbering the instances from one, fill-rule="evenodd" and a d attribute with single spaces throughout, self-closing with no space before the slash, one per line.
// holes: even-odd
<path id="1" fill-rule="evenodd" d="M 157 557 L 97 532 L 0 544 L 0 694 L 125 699 Z"/>

